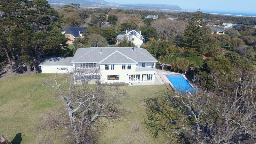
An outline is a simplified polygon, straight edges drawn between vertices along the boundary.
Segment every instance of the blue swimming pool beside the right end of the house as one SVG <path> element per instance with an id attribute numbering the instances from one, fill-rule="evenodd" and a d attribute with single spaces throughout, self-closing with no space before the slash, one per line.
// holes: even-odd
<path id="1" fill-rule="evenodd" d="M 183 93 L 195 93 L 195 89 L 188 83 L 188 81 L 183 76 L 178 75 L 165 75 L 168 80 L 172 83 L 177 92 Z"/>

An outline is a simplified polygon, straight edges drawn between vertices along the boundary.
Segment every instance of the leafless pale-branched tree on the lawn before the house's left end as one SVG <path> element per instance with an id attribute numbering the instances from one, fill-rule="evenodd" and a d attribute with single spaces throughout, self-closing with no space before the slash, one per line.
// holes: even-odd
<path id="1" fill-rule="evenodd" d="M 113 120 L 124 115 L 125 110 L 117 108 L 116 104 L 121 104 L 124 99 L 120 97 L 126 96 L 118 84 L 109 87 L 107 83 L 100 84 L 98 72 L 98 69 L 79 68 L 67 75 L 56 74 L 52 82 L 46 81 L 43 86 L 56 89 L 54 96 L 64 107 L 44 116 L 38 129 L 56 132 L 65 128 L 69 140 L 74 137 L 76 143 L 96 142 L 98 132 L 105 126 L 104 119 L 113 124 Z M 95 84 L 88 85 L 92 78 Z"/>

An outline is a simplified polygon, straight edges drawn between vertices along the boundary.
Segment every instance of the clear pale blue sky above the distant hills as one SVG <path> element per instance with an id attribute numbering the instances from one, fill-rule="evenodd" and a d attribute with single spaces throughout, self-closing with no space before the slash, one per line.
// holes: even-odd
<path id="1" fill-rule="evenodd" d="M 119 4 L 173 4 L 182 9 L 196 10 L 198 7 L 207 12 L 237 12 L 256 14 L 256 0 L 105 0 Z"/>

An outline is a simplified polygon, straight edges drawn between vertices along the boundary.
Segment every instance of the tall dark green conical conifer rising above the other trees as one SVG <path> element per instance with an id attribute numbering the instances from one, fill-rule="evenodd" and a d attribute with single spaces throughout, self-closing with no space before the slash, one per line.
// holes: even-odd
<path id="1" fill-rule="evenodd" d="M 181 36 L 180 46 L 193 51 L 198 51 L 203 47 L 204 34 L 203 34 L 203 22 L 200 9 L 191 18 L 187 28 Z"/>

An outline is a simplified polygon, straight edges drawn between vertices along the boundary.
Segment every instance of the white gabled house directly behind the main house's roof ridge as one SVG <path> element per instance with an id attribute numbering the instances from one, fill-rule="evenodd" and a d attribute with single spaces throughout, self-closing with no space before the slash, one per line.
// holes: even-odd
<path id="1" fill-rule="evenodd" d="M 144 43 L 144 38 L 141 36 L 141 31 L 135 30 L 126 30 L 124 35 L 118 35 L 116 37 L 116 44 L 127 39 L 127 41 L 131 41 L 136 47 L 140 47 Z"/>

